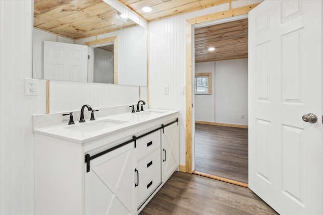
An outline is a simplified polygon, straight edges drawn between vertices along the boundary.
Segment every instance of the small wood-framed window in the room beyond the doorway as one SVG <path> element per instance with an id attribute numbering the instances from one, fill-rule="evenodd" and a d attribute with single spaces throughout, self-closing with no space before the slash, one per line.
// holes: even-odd
<path id="1" fill-rule="evenodd" d="M 212 74 L 197 73 L 195 74 L 195 94 L 212 94 Z"/>

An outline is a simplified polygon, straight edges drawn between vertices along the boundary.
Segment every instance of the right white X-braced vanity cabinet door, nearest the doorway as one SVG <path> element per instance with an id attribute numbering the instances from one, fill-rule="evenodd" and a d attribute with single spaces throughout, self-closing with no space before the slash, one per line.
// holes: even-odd
<path id="1" fill-rule="evenodd" d="M 179 169 L 179 126 L 178 123 L 161 129 L 161 181 L 165 182 Z"/>

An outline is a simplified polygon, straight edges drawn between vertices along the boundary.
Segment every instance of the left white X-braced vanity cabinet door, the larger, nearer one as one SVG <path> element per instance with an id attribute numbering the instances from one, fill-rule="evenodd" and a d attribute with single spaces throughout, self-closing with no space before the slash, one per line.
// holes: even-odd
<path id="1" fill-rule="evenodd" d="M 85 170 L 86 214 L 135 214 L 137 171 L 134 144 L 91 160 Z"/>

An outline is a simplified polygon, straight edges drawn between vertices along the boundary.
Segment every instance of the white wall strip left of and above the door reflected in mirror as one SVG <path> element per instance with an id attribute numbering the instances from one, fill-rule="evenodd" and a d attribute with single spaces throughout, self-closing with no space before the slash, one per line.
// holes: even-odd
<path id="1" fill-rule="evenodd" d="M 44 53 L 44 41 L 51 42 L 62 42 L 62 43 L 74 43 L 74 40 L 68 39 L 66 37 L 57 36 L 45 31 L 38 30 L 33 28 L 33 78 L 34 79 L 43 79 L 43 53 Z"/>

